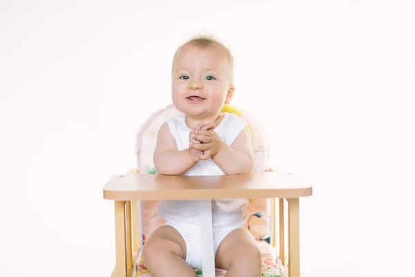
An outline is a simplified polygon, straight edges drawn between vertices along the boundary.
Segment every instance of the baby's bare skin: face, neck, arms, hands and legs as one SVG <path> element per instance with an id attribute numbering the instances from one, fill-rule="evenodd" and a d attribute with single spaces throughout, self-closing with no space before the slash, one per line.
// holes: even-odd
<path id="1" fill-rule="evenodd" d="M 252 170 L 248 132 L 241 132 L 232 145 L 224 143 L 214 132 L 223 119 L 221 108 L 233 97 L 231 71 L 228 55 L 219 44 L 208 47 L 185 44 L 179 49 L 172 69 L 172 98 L 191 129 L 189 148 L 178 151 L 169 127 L 162 125 L 154 152 L 157 172 L 181 175 L 205 159 L 212 159 L 227 175 Z M 154 277 L 196 276 L 185 262 L 185 240 L 172 226 L 161 226 L 154 231 L 145 242 L 142 256 Z M 261 274 L 261 254 L 246 229 L 235 229 L 225 236 L 216 251 L 215 263 L 216 267 L 227 270 L 228 277 Z"/>

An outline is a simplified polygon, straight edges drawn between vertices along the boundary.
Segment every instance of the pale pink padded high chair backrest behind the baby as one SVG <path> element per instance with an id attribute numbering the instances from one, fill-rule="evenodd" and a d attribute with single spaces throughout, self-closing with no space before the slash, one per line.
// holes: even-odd
<path id="1" fill-rule="evenodd" d="M 241 116 L 248 123 L 248 127 L 251 134 L 252 149 L 255 154 L 254 172 L 268 170 L 268 141 L 263 133 L 263 127 L 259 120 L 249 114 L 248 111 L 237 109 L 230 105 L 225 105 L 222 109 L 223 112 L 229 112 Z M 158 129 L 165 121 L 172 117 L 181 114 L 174 105 L 169 105 L 163 109 L 160 109 L 145 121 L 140 127 L 136 136 L 136 161 L 139 173 L 157 174 L 154 167 L 153 154 L 156 148 L 156 139 Z M 158 217 L 158 202 L 157 201 L 145 201 L 140 202 L 140 233 L 142 243 L 149 235 L 164 224 L 164 220 Z M 260 237 L 261 240 L 272 242 L 275 222 L 274 217 L 273 199 L 250 199 L 248 205 L 248 224 L 244 227 L 250 229 L 250 231 Z M 264 227 L 266 224 L 266 228 Z M 255 228 L 252 228 L 255 225 Z M 269 228 L 268 228 L 269 227 Z M 265 230 L 266 229 L 266 230 Z M 266 235 L 265 233 L 269 233 Z M 264 235 L 265 234 L 265 235 Z"/>

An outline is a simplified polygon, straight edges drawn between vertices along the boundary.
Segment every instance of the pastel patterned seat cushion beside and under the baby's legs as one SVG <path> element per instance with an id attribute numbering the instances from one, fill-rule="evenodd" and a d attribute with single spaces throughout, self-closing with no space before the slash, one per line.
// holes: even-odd
<path id="1" fill-rule="evenodd" d="M 258 242 L 258 246 L 261 249 L 262 254 L 261 277 L 284 277 L 284 267 L 281 259 L 275 254 L 275 249 L 264 241 Z M 160 267 L 163 267 L 163 265 L 160 265 Z M 201 271 L 201 269 L 194 269 L 194 271 L 197 276 L 203 276 L 203 271 Z M 223 277 L 225 274 L 225 269 L 216 268 L 216 277 Z M 151 272 L 145 267 L 145 263 L 142 260 L 141 251 L 136 260 L 132 277 L 137 276 L 151 277 Z"/>

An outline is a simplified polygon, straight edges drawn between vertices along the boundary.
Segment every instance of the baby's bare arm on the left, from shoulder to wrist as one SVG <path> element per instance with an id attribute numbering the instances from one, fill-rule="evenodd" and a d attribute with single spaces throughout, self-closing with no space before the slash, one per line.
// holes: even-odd
<path id="1" fill-rule="evenodd" d="M 177 150 L 174 136 L 169 126 L 164 123 L 158 131 L 156 150 L 154 150 L 154 166 L 159 174 L 181 175 L 196 165 L 189 155 L 189 149 Z"/>

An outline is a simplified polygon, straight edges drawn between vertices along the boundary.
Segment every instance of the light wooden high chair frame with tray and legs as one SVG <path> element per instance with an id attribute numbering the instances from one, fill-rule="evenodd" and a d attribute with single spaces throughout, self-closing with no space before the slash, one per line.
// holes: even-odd
<path id="1" fill-rule="evenodd" d="M 172 107 L 170 106 L 167 109 L 171 110 Z M 234 109 L 230 109 L 230 107 L 227 107 L 227 109 L 227 112 L 229 110 L 236 112 Z M 146 121 L 145 126 L 148 126 L 149 121 L 154 120 L 154 116 L 151 116 Z M 162 121 L 160 120 L 160 122 Z M 141 129 L 139 136 L 145 132 L 149 136 L 154 136 L 154 134 L 148 134 L 147 127 Z M 255 126 L 251 125 L 250 132 L 257 133 L 259 131 L 255 129 Z M 142 141 L 139 141 L 138 144 L 142 144 Z M 140 150 L 152 152 L 151 147 L 148 147 L 148 145 L 145 148 L 138 148 L 138 151 Z M 262 168 L 262 166 L 264 164 L 261 163 L 259 168 Z M 147 168 L 147 170 L 142 170 L 142 163 L 139 163 L 138 168 L 131 169 L 124 175 L 113 176 L 104 186 L 104 199 L 113 200 L 115 208 L 116 268 L 111 276 L 151 276 L 151 273 L 147 271 L 140 258 L 140 249 L 143 243 L 143 238 L 140 234 L 142 234 L 142 229 L 145 227 L 145 224 L 143 225 L 142 221 L 140 221 L 140 218 L 141 220 L 143 218 L 142 203 L 189 199 L 245 198 L 252 201 L 255 201 L 255 199 L 270 199 L 273 211 L 272 247 L 265 242 L 259 242 L 259 245 L 261 247 L 265 245 L 264 249 L 268 251 L 267 246 L 270 249 L 274 249 L 277 246 L 274 228 L 277 222 L 275 222 L 274 211 L 276 208 L 275 199 L 278 198 L 279 257 L 277 257 L 277 260 L 280 260 L 284 265 L 284 271 L 281 271 L 279 274 L 263 271 L 261 276 L 299 277 L 299 198 L 310 195 L 312 195 L 312 187 L 301 177 L 283 172 L 273 172 L 269 168 L 254 170 L 246 175 L 190 177 L 158 175 L 151 167 Z M 288 258 L 285 256 L 286 247 L 284 243 L 284 219 L 286 219 L 284 199 L 288 202 Z M 275 260 L 274 256 L 273 260 Z M 201 271 L 196 271 L 196 274 L 201 275 L 202 273 Z M 221 274 L 216 272 L 216 276 L 224 276 L 225 273 Z"/>

